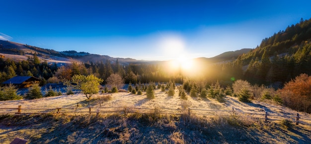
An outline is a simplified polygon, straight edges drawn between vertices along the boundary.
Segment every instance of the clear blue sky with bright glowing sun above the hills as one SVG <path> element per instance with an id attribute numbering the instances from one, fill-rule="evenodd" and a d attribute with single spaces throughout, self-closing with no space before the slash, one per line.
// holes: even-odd
<path id="1" fill-rule="evenodd" d="M 310 0 L 0 0 L 0 39 L 115 58 L 214 57 L 311 18 Z"/>

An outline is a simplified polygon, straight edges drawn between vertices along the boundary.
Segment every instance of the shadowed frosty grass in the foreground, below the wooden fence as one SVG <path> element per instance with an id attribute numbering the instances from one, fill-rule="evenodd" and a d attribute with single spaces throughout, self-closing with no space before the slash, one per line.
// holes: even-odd
<path id="1" fill-rule="evenodd" d="M 311 142 L 310 127 L 256 121 L 236 115 L 187 114 L 2 115 L 0 143 L 15 137 L 29 144 L 232 144 Z"/>

